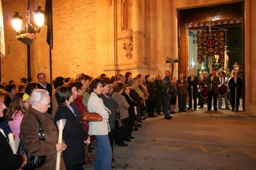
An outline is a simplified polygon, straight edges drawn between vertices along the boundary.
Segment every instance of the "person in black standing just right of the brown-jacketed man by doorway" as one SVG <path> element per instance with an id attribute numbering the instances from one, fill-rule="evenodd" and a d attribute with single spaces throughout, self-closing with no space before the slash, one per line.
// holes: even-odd
<path id="1" fill-rule="evenodd" d="M 199 84 L 198 82 L 198 77 L 194 76 L 194 73 L 191 74 L 191 76 L 188 77 L 188 90 L 189 90 L 189 108 L 188 110 L 192 109 L 192 88 L 193 88 L 193 104 L 194 104 L 194 110 L 196 110 L 197 106 L 197 85 Z"/>

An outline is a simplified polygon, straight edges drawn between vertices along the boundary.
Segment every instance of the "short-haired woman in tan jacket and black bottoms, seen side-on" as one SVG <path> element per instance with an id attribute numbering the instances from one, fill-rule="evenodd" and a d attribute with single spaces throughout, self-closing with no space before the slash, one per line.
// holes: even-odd
<path id="1" fill-rule="evenodd" d="M 115 142 L 118 144 L 118 146 L 128 146 L 123 141 L 126 140 L 130 142 L 131 140 L 128 139 L 128 127 L 129 127 L 129 113 L 128 108 L 130 105 L 125 100 L 125 97 L 121 95 L 123 93 L 124 84 L 121 82 L 118 82 L 117 86 L 114 87 L 115 93 L 112 95 L 112 98 L 117 102 L 121 120 L 123 121 L 124 127 L 122 129 L 116 129 L 116 136 L 115 136 Z"/>

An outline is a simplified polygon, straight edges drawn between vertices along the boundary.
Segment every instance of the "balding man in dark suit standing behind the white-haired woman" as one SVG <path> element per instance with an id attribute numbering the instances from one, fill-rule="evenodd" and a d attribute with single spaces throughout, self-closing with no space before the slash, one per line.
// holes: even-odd
<path id="1" fill-rule="evenodd" d="M 50 83 L 46 82 L 45 74 L 44 73 L 38 73 L 37 74 L 37 79 L 38 79 L 38 83 L 36 84 L 37 88 L 47 90 L 49 92 L 49 95 L 50 95 L 51 101 L 52 101 L 53 88 L 52 88 Z M 51 103 L 51 107 L 48 108 L 47 113 L 49 113 L 49 114 L 52 113 L 52 103 Z"/>

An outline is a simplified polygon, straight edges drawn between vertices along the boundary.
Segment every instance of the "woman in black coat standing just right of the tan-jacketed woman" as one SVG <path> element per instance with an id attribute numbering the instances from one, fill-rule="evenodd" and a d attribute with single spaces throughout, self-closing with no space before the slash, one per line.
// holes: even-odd
<path id="1" fill-rule="evenodd" d="M 135 103 L 135 101 L 133 101 L 133 99 L 131 98 L 131 96 L 129 94 L 130 94 L 130 88 L 127 84 L 125 84 L 124 91 L 123 91 L 122 95 L 125 97 L 126 101 L 130 105 L 130 107 L 128 108 L 129 118 L 128 118 L 128 130 L 125 135 L 126 141 L 130 141 L 130 139 L 135 138 L 135 137 L 132 137 L 132 131 L 133 131 L 133 126 L 134 126 L 134 120 L 136 118 L 136 115 L 135 115 L 136 103 Z"/>

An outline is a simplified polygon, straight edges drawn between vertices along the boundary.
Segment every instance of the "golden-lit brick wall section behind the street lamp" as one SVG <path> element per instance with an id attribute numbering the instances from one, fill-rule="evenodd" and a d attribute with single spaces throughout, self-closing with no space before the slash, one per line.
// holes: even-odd
<path id="1" fill-rule="evenodd" d="M 15 39 L 11 25 L 14 11 L 19 11 L 26 20 L 27 0 L 2 0 L 6 51 L 10 53 L 1 59 L 2 82 L 13 79 L 19 84 L 20 77 L 27 77 L 27 48 Z M 37 5 L 44 10 L 45 0 L 30 0 L 32 11 Z M 78 73 L 97 76 L 96 57 L 96 0 L 54 0 L 53 28 L 54 48 L 52 50 L 53 79 L 57 76 L 74 77 Z M 46 43 L 47 26 L 44 25 L 37 39 L 30 45 L 31 77 L 36 80 L 38 72 L 45 72 L 49 82 L 49 46 Z"/>

